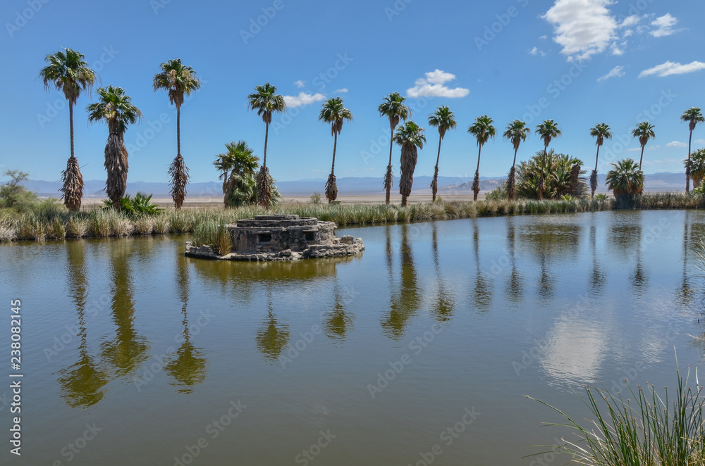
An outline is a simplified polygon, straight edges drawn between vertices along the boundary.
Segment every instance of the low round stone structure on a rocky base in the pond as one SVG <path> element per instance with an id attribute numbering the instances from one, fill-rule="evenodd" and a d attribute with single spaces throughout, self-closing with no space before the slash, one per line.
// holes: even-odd
<path id="1" fill-rule="evenodd" d="M 362 239 L 336 238 L 336 224 L 298 215 L 257 215 L 227 225 L 233 248 L 219 256 L 210 246 L 186 243 L 186 256 L 225 260 L 295 260 L 352 256 L 364 250 Z"/>

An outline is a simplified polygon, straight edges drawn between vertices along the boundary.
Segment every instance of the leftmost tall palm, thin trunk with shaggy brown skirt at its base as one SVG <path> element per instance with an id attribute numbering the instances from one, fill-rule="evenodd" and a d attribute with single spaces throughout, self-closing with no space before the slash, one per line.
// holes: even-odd
<path id="1" fill-rule="evenodd" d="M 82 91 L 90 91 L 95 82 L 95 73 L 88 67 L 82 53 L 64 48 L 51 55 L 44 61 L 47 66 L 39 71 L 44 89 L 51 87 L 62 91 L 68 100 L 68 119 L 71 128 L 71 157 L 66 163 L 66 170 L 61 172 L 63 187 L 63 203 L 68 210 L 80 210 L 83 197 L 83 175 L 78 167 L 78 159 L 73 153 L 73 106 L 78 101 Z"/>

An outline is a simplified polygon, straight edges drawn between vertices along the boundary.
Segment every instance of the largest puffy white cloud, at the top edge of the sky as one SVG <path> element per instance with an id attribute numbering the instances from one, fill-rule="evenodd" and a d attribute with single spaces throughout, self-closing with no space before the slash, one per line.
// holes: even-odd
<path id="1" fill-rule="evenodd" d="M 556 0 L 541 16 L 553 25 L 553 40 L 568 61 L 585 60 L 603 52 L 617 37 L 617 20 L 607 6 L 611 0 Z"/>

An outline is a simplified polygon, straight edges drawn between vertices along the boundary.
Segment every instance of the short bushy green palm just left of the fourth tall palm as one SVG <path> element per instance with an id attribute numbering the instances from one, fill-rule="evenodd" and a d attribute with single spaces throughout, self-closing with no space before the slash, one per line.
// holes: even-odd
<path id="1" fill-rule="evenodd" d="M 243 206 L 257 201 L 255 173 L 259 157 L 245 141 L 228 142 L 227 151 L 219 153 L 214 161 L 223 180 L 223 204 L 226 207 Z"/>

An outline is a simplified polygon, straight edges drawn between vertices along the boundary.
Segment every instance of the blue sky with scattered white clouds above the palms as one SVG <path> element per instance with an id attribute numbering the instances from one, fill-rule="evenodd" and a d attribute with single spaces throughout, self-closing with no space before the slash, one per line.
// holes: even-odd
<path id="1" fill-rule="evenodd" d="M 216 180 L 212 161 L 228 141 L 245 139 L 258 156 L 264 123 L 246 96 L 271 82 L 288 111 L 275 115 L 267 162 L 277 180 L 325 178 L 333 138 L 317 120 L 323 99 L 341 96 L 355 121 L 338 138 L 338 177 L 383 177 L 388 121 L 377 106 L 390 92 L 407 96 L 413 120 L 427 128 L 417 175 L 432 175 L 438 132 L 427 116 L 448 105 L 458 129 L 443 139 L 440 174 L 472 177 L 477 146 L 467 127 L 494 119 L 498 137 L 482 151 L 480 175 L 503 176 L 513 157 L 499 137 L 520 118 L 532 130 L 546 118 L 563 136 L 551 148 L 594 164 L 589 129 L 611 125 L 600 172 L 618 158 L 639 158 L 629 136 L 642 120 L 656 125 L 644 172 L 682 171 L 683 111 L 705 107 L 705 47 L 699 0 L 358 0 L 248 2 L 186 0 L 5 0 L 0 6 L 0 168 L 34 180 L 58 180 L 69 155 L 63 94 L 37 79 L 44 56 L 63 47 L 85 54 L 102 85 L 125 89 L 145 115 L 129 128 L 129 180 L 166 182 L 176 155 L 176 111 L 152 90 L 159 63 L 180 57 L 203 81 L 181 112 L 182 153 L 192 182 Z M 95 96 L 95 94 L 93 94 Z M 75 151 L 86 180 L 104 179 L 104 125 L 75 108 Z M 705 125 L 694 134 L 705 146 Z M 542 149 L 533 132 L 519 160 Z M 395 148 L 393 165 L 399 165 Z M 381 184 L 380 184 L 381 186 Z"/>

